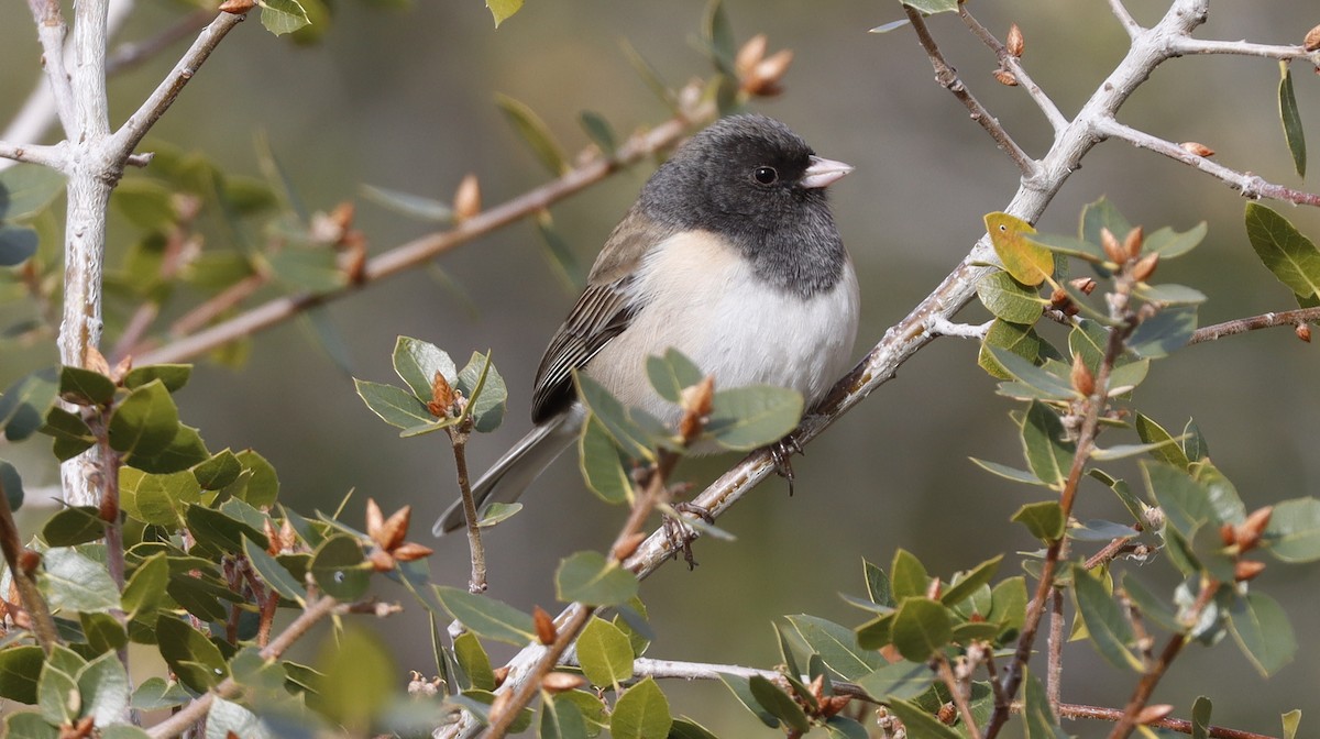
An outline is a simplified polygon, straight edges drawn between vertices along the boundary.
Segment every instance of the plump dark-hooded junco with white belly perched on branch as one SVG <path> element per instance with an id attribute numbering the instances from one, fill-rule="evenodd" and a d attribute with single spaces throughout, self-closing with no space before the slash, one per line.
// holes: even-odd
<path id="1" fill-rule="evenodd" d="M 717 388 L 770 384 L 818 402 L 857 335 L 857 276 L 825 201 L 851 166 L 817 157 L 784 124 L 723 119 L 656 170 L 597 256 L 586 290 L 550 339 L 532 391 L 536 425 L 473 487 L 478 508 L 512 501 L 582 428 L 585 372 L 624 405 L 675 422 L 647 379 L 675 347 Z M 441 536 L 465 525 L 459 503 Z"/>

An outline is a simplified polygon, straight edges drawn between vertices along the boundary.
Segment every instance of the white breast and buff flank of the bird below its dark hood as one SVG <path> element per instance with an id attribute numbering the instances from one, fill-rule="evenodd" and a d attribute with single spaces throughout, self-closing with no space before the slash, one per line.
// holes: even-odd
<path id="1" fill-rule="evenodd" d="M 713 373 L 715 389 L 793 388 L 808 408 L 847 370 L 858 317 L 851 263 L 830 292 L 801 298 L 767 285 L 713 235 L 684 234 L 644 257 L 632 289 L 644 307 L 586 372 L 661 420 L 677 409 L 651 389 L 645 360 L 669 347 Z"/>

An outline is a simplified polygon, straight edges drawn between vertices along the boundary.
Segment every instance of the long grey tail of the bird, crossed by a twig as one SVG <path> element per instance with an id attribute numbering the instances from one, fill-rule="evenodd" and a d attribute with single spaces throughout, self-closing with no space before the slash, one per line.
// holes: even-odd
<path id="1" fill-rule="evenodd" d="M 581 421 L 576 424 L 574 416 L 577 414 L 572 412 L 561 413 L 536 426 L 491 465 L 491 468 L 473 486 L 473 501 L 478 513 L 491 503 L 512 503 L 523 495 L 532 480 L 577 438 L 577 426 Z M 459 499 L 441 513 L 430 530 L 436 536 L 445 536 L 466 525 L 463 501 Z"/>

